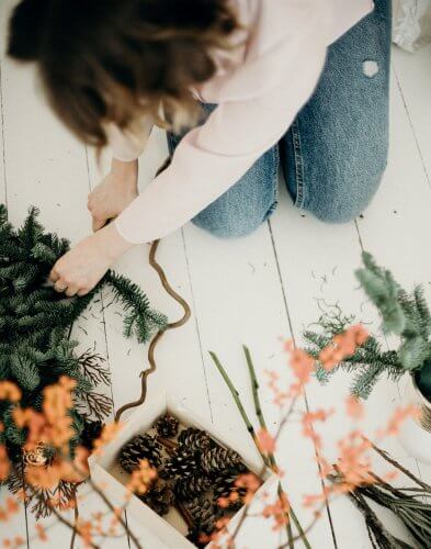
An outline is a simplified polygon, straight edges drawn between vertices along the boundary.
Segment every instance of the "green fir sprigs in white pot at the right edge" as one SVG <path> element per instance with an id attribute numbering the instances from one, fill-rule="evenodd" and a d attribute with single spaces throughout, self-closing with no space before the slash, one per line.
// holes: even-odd
<path id="1" fill-rule="evenodd" d="M 322 351 L 333 344 L 333 337 L 343 333 L 353 316 L 331 307 L 317 322 L 318 329 L 307 329 L 304 337 L 308 352 L 317 360 L 316 376 L 326 382 L 338 369 L 354 373 L 351 392 L 366 399 L 382 376 L 397 381 L 407 380 L 406 403 L 413 404 L 418 414 L 407 421 L 400 433 L 401 444 L 415 457 L 431 462 L 431 313 L 423 287 L 411 292 L 401 288 L 392 272 L 379 267 L 368 254 L 363 254 L 363 267 L 356 271 L 360 284 L 382 317 L 382 335 L 398 339 L 396 348 L 386 350 L 377 337 L 368 338 L 353 355 L 334 368 L 322 362 Z M 424 437 L 429 444 L 424 442 Z"/>

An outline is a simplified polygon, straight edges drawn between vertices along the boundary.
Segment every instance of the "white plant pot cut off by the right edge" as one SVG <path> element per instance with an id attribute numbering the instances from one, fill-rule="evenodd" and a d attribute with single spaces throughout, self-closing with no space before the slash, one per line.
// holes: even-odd
<path id="1" fill-rule="evenodd" d="M 402 423 L 399 440 L 409 456 L 431 464 L 431 402 L 418 389 L 413 374 L 406 377 L 402 405 L 413 405 L 419 414 Z"/>

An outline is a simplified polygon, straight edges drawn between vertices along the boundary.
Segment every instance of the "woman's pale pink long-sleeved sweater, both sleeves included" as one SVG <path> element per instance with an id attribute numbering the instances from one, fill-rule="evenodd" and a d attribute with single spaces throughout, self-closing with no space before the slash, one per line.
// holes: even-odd
<path id="1" fill-rule="evenodd" d="M 170 167 L 116 219 L 128 242 L 148 243 L 178 229 L 235 184 L 277 143 L 307 102 L 324 68 L 327 46 L 373 9 L 372 0 L 234 0 L 247 27 L 245 42 L 218 59 L 199 90 L 218 107 L 181 141 Z M 240 36 L 242 33 L 242 36 Z M 126 136 L 109 130 L 114 157 L 132 161 L 151 124 Z"/>

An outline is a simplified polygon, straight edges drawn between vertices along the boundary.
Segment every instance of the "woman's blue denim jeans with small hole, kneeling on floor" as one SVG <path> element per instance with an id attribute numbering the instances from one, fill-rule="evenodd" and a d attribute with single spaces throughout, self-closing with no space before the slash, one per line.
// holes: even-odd
<path id="1" fill-rule="evenodd" d="M 218 237 L 250 234 L 275 210 L 281 164 L 294 204 L 328 223 L 356 217 L 387 163 L 390 0 L 328 49 L 308 103 L 268 150 L 193 223 Z M 216 105 L 204 105 L 208 115 Z M 257 128 L 259 131 L 259 128 Z M 181 135 L 168 134 L 172 154 Z"/>

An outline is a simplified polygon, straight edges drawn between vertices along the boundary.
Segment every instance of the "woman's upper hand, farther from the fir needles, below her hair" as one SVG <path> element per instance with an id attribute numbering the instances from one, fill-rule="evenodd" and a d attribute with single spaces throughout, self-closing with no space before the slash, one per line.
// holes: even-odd
<path id="1" fill-rule="evenodd" d="M 138 161 L 112 160 L 111 171 L 89 194 L 88 209 L 93 231 L 102 228 L 137 197 Z"/>

